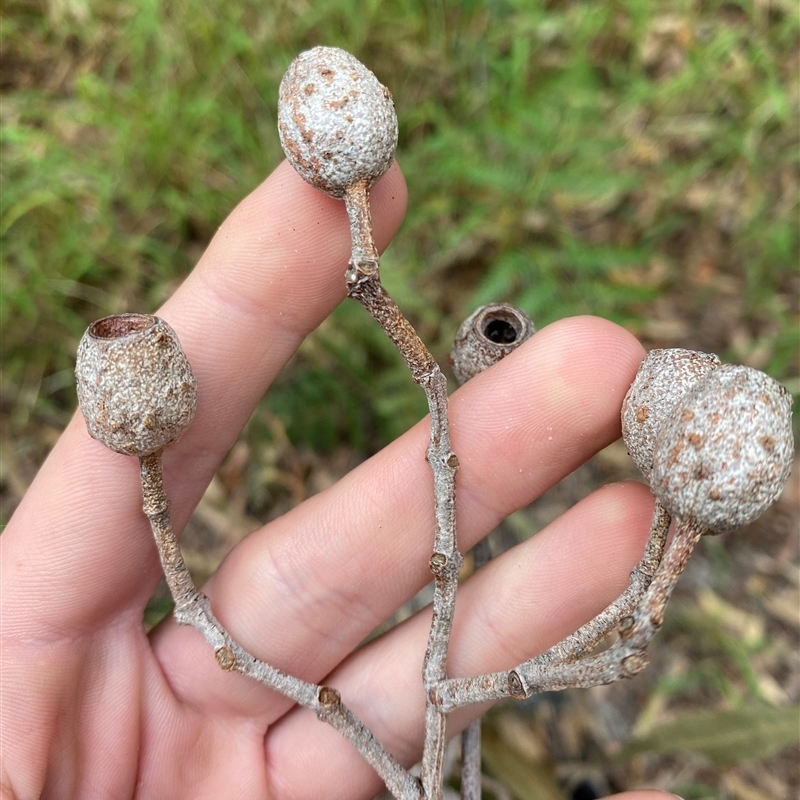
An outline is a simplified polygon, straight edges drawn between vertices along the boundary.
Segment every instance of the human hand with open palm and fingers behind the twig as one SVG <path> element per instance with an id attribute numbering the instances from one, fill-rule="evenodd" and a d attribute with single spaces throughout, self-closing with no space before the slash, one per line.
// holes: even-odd
<path id="1" fill-rule="evenodd" d="M 382 247 L 405 202 L 395 166 L 372 191 Z M 176 530 L 271 381 L 344 297 L 349 249 L 342 204 L 283 164 L 159 311 L 199 385 L 195 421 L 164 455 Z M 609 322 L 564 320 L 453 396 L 462 551 L 619 435 L 642 356 Z M 423 421 L 254 532 L 204 587 L 243 647 L 338 688 L 406 764 L 421 751 L 429 612 L 356 648 L 430 580 L 427 437 Z M 0 537 L 2 798 L 379 791 L 335 731 L 221 671 L 196 631 L 168 620 L 145 634 L 161 571 L 141 502 L 136 459 L 92 440 L 77 414 Z M 641 556 L 652 506 L 643 486 L 606 487 L 467 580 L 450 674 L 513 666 L 611 602 Z M 470 719 L 454 713 L 452 732 Z"/>

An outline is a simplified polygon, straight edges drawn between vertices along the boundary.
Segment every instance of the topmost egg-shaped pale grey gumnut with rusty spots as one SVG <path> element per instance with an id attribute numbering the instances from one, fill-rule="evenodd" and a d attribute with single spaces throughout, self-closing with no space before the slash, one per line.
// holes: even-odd
<path id="1" fill-rule="evenodd" d="M 391 166 L 397 116 L 391 92 L 337 47 L 301 53 L 281 80 L 278 133 L 286 157 L 312 186 L 343 197 Z"/>

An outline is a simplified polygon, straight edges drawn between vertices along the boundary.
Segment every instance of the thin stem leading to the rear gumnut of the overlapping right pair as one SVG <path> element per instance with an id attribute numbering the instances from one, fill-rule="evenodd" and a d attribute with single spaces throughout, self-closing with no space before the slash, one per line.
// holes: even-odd
<path id="1" fill-rule="evenodd" d="M 531 669 L 546 669 L 548 666 L 555 668 L 591 652 L 592 648 L 633 613 L 641 602 L 664 557 L 669 525 L 669 514 L 660 503 L 656 502 L 645 552 L 631 572 L 628 588 L 594 619 L 544 653 L 520 664 L 514 670 L 448 680 L 446 684 L 439 687 L 438 702 L 441 702 L 442 707 L 449 712 L 474 703 L 517 696 L 514 676 L 526 665 L 529 665 Z"/>

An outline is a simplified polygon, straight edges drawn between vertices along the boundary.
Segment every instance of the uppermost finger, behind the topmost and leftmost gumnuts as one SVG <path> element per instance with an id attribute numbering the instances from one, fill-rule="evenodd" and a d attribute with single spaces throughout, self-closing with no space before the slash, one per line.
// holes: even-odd
<path id="1" fill-rule="evenodd" d="M 406 199 L 393 165 L 371 196 L 381 248 Z M 349 254 L 344 204 L 283 162 L 158 312 L 198 381 L 197 416 L 164 458 L 176 530 L 275 375 L 345 296 Z M 61 637 L 143 607 L 161 573 L 141 504 L 137 460 L 91 439 L 76 414 L 0 539 L 6 633 Z"/>

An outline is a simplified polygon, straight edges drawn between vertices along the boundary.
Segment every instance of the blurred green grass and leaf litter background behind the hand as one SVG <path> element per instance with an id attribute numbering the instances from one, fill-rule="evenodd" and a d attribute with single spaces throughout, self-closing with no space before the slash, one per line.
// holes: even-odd
<path id="1" fill-rule="evenodd" d="M 277 84 L 320 43 L 394 94 L 410 207 L 384 274 L 440 361 L 461 319 L 503 299 L 540 327 L 599 314 L 797 393 L 799 28 L 792 0 L 7 0 L 3 518 L 74 408 L 86 325 L 180 283 L 282 157 Z M 220 470 L 187 534 L 195 572 L 423 413 L 344 304 Z M 505 536 L 628 467 L 612 448 L 587 469 Z M 669 658 L 635 689 L 493 717 L 487 771 L 519 798 L 796 796 L 797 752 L 781 749 L 796 736 L 775 731 L 797 728 L 798 499 L 793 484 L 760 527 L 708 544 L 662 634 Z M 684 728 L 659 738 L 668 724 Z M 509 743 L 524 758 L 507 763 Z"/>

